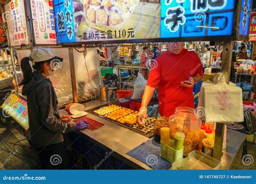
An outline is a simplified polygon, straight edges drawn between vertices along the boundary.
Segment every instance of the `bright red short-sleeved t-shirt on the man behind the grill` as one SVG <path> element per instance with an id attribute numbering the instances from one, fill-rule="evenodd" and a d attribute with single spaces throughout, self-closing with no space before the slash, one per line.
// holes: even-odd
<path id="1" fill-rule="evenodd" d="M 180 82 L 197 73 L 203 76 L 203 66 L 194 51 L 183 51 L 176 55 L 165 51 L 151 69 L 147 86 L 157 88 L 159 114 L 169 117 L 177 107 L 194 108 L 193 88 L 185 88 Z"/>

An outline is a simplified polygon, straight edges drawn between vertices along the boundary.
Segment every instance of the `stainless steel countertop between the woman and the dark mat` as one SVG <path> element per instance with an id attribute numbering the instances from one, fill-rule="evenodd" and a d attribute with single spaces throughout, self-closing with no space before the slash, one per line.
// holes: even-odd
<path id="1" fill-rule="evenodd" d="M 100 102 L 96 100 L 83 103 L 83 105 L 85 106 L 85 111 L 90 111 L 91 109 L 110 103 L 116 103 L 116 100 L 111 99 L 109 102 Z M 67 114 L 64 109 L 60 110 L 59 113 L 60 116 Z M 89 137 L 93 144 L 99 145 L 104 150 L 113 151 L 113 156 L 124 161 L 127 165 L 137 169 L 151 169 L 143 162 L 126 154 L 133 148 L 149 140 L 149 138 L 93 115 L 90 112 L 88 113 L 87 117 L 103 123 L 104 126 L 95 131 L 85 129 L 79 131 L 79 133 L 81 133 L 83 136 Z"/>

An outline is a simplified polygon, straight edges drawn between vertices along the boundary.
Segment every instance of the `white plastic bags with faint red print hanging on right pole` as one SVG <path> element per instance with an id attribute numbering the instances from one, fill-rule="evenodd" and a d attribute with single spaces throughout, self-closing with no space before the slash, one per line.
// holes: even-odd
<path id="1" fill-rule="evenodd" d="M 224 75 L 216 76 L 215 84 L 206 85 L 200 91 L 200 108 L 204 108 L 207 122 L 243 122 L 242 90 L 226 84 Z M 217 82 L 217 83 L 216 83 Z"/>

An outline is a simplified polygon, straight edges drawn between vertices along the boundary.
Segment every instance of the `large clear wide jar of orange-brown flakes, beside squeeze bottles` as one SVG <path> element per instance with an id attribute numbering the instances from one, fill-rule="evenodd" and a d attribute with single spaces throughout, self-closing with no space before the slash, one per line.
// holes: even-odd
<path id="1" fill-rule="evenodd" d="M 176 108 L 175 113 L 169 117 L 170 138 L 181 131 L 185 134 L 184 156 L 187 156 L 196 147 L 200 139 L 201 121 L 194 115 L 194 109 L 188 107 Z"/>

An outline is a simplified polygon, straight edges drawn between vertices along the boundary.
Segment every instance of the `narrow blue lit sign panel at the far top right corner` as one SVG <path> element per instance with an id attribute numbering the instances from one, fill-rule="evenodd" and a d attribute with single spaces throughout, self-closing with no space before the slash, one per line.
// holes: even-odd
<path id="1" fill-rule="evenodd" d="M 248 36 L 248 27 L 250 22 L 252 0 L 241 1 L 240 21 L 239 21 L 239 34 Z"/>

